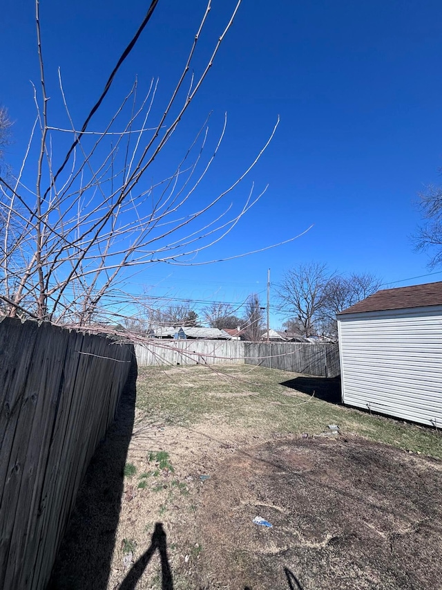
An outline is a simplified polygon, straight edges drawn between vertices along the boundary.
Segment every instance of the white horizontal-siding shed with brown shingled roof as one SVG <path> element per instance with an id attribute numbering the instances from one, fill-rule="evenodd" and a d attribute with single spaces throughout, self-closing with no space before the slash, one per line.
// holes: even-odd
<path id="1" fill-rule="evenodd" d="M 442 427 L 442 282 L 378 291 L 338 335 L 343 403 Z"/>

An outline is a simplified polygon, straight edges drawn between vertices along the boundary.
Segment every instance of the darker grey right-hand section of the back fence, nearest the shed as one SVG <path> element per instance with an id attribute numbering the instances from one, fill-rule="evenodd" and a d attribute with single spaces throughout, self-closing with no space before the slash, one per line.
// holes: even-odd
<path id="1" fill-rule="evenodd" d="M 318 377 L 340 374 L 338 344 L 244 342 L 247 365 L 294 371 Z"/>

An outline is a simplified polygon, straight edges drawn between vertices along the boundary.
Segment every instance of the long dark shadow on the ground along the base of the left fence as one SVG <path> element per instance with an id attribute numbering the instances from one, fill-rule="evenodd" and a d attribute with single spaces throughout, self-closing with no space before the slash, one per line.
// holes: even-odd
<path id="1" fill-rule="evenodd" d="M 106 590 L 108 586 L 135 417 L 136 382 L 134 356 L 115 422 L 97 447 L 79 489 L 48 590 Z"/>

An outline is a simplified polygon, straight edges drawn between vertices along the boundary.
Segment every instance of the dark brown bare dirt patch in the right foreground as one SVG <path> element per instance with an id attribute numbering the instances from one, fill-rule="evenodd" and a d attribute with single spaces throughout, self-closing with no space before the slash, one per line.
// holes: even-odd
<path id="1" fill-rule="evenodd" d="M 238 452 L 198 513 L 199 587 L 439 589 L 441 483 L 440 462 L 357 437 Z"/>

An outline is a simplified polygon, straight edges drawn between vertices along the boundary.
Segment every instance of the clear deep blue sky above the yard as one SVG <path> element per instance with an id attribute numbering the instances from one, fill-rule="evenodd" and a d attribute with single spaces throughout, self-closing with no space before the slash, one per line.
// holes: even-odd
<path id="1" fill-rule="evenodd" d="M 213 1 L 195 71 L 235 3 Z M 159 101 L 168 95 L 205 6 L 204 0 L 160 0 L 115 80 L 104 115 L 135 75 L 144 88 L 158 76 Z M 55 121 L 63 120 L 57 68 L 73 116 L 82 122 L 147 7 L 140 0 L 41 0 Z M 30 80 L 39 80 L 32 1 L 3 0 L 2 21 L 0 104 L 15 121 L 7 154 L 14 168 L 35 117 Z M 440 180 L 441 21 L 440 1 L 244 0 L 166 156 L 185 149 L 209 112 L 215 137 L 227 111 L 222 149 L 195 195 L 199 205 L 247 168 L 280 116 L 271 145 L 233 197 L 242 202 L 252 181 L 258 192 L 269 188 L 240 225 L 196 261 L 256 250 L 313 228 L 250 257 L 146 268 L 128 279 L 127 290 L 146 287 L 153 295 L 242 302 L 253 291 L 265 297 L 267 268 L 276 284 L 285 270 L 306 261 L 343 273 L 374 273 L 392 286 L 441 280 L 442 273 L 396 284 L 430 272 L 427 256 L 413 252 L 410 234 L 420 219 L 417 193 Z M 155 174 L 165 171 L 163 160 Z M 272 323 L 280 323 L 275 314 Z"/>

